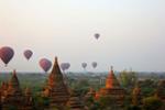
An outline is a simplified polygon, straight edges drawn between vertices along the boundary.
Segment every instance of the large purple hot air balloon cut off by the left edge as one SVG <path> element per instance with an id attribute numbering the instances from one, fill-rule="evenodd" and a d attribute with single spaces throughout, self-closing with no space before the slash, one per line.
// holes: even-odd
<path id="1" fill-rule="evenodd" d="M 3 46 L 0 48 L 0 58 L 2 62 L 8 66 L 8 63 L 12 59 L 14 56 L 14 51 L 9 46 Z"/>

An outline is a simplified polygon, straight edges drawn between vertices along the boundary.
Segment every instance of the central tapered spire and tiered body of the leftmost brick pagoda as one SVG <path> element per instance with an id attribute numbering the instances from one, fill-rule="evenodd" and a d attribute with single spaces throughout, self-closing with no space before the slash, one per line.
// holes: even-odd
<path id="1" fill-rule="evenodd" d="M 9 80 L 7 91 L 3 92 L 2 99 L 2 110 L 16 109 L 24 110 L 24 97 L 20 88 L 20 82 L 15 70 Z"/>

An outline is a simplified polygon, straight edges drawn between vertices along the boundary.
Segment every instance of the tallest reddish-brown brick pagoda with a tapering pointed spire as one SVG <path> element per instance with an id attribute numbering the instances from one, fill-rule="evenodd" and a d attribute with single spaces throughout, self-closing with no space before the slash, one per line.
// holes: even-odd
<path id="1" fill-rule="evenodd" d="M 69 98 L 68 88 L 64 82 L 63 74 L 58 66 L 57 57 L 55 57 L 55 63 L 53 70 L 48 76 L 47 86 L 44 90 L 44 96 L 50 98 L 50 109 L 58 108 L 63 110 Z"/>

